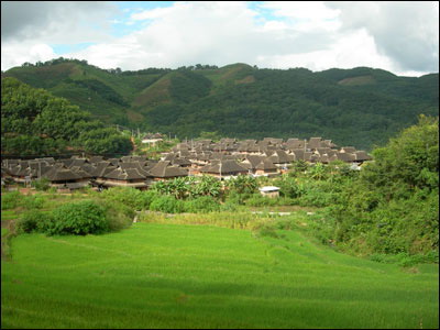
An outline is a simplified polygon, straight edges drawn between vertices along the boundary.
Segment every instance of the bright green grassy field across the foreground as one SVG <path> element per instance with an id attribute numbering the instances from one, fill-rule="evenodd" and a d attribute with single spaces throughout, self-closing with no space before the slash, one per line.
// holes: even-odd
<path id="1" fill-rule="evenodd" d="M 1 267 L 4 328 L 436 328 L 438 265 L 404 270 L 209 226 L 22 234 Z"/>

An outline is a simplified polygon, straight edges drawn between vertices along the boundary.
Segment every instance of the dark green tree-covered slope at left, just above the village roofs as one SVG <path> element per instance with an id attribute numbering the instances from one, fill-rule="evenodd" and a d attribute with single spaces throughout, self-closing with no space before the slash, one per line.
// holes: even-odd
<path id="1" fill-rule="evenodd" d="M 51 155 L 66 152 L 127 154 L 130 138 L 64 98 L 35 89 L 15 78 L 1 81 L 1 152 Z"/>

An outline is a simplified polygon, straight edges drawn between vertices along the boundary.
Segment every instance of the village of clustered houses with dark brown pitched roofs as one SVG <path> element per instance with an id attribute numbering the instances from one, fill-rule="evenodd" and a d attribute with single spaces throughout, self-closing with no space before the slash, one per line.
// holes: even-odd
<path id="1" fill-rule="evenodd" d="M 146 156 L 2 160 L 1 176 L 2 183 L 9 179 L 24 184 L 46 178 L 51 186 L 67 190 L 85 186 L 147 189 L 156 180 L 182 176 L 211 175 L 219 179 L 238 175 L 276 176 L 287 172 L 292 163 L 299 160 L 323 164 L 339 160 L 356 167 L 371 158 L 364 151 L 352 146 L 337 148 L 331 140 L 321 138 L 308 141 L 222 139 L 217 143 L 210 140 L 179 143 L 158 161 Z"/>

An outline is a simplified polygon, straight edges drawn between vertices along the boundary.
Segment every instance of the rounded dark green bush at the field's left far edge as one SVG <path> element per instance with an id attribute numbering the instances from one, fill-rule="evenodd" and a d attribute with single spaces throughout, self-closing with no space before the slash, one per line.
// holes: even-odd
<path id="1" fill-rule="evenodd" d="M 53 234 L 98 234 L 109 230 L 106 210 L 92 200 L 65 204 L 53 211 L 45 232 Z"/>

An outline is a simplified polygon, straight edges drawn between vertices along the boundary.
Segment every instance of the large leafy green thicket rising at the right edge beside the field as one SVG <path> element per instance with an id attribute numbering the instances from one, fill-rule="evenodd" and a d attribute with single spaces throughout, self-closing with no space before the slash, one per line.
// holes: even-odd
<path id="1" fill-rule="evenodd" d="M 425 254 L 439 249 L 439 124 L 420 117 L 338 194 L 322 226 L 360 253 Z"/>

